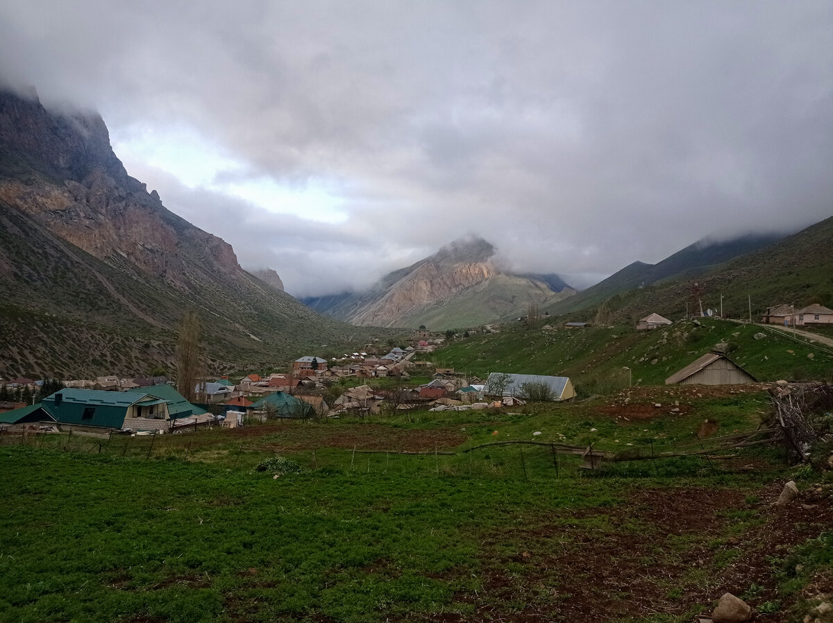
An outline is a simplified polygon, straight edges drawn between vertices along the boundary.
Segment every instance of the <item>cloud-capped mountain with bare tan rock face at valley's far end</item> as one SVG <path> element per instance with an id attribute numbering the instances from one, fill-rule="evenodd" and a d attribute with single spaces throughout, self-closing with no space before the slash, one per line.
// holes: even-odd
<path id="1" fill-rule="evenodd" d="M 515 275 L 493 262 L 481 238 L 451 242 L 410 267 L 389 273 L 367 292 L 305 299 L 322 313 L 356 325 L 449 328 L 476 326 L 570 297 L 557 275 Z"/>

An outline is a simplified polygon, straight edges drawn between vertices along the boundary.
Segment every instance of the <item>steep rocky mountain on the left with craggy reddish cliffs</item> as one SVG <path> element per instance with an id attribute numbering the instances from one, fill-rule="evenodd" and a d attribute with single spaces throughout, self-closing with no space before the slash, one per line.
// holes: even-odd
<path id="1" fill-rule="evenodd" d="M 0 92 L 0 376 L 172 371 L 187 309 L 214 371 L 371 337 L 265 277 L 128 176 L 101 117 Z"/>

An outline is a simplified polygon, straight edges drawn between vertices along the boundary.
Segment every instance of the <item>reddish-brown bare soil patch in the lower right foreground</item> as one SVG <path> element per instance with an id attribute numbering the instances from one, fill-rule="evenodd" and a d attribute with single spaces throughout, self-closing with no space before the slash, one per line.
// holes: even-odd
<path id="1" fill-rule="evenodd" d="M 681 616 L 698 606 L 706 613 L 723 593 L 753 587 L 746 596 L 753 608 L 775 601 L 773 559 L 833 525 L 829 494 L 771 506 L 782 484 L 759 492 L 766 503 L 726 489 L 636 491 L 620 507 L 564 511 L 538 526 L 486 535 L 482 590 L 456 596 L 476 616 L 433 620 Z M 802 502 L 817 506 L 806 510 Z M 788 607 L 753 620 L 789 621 Z"/>

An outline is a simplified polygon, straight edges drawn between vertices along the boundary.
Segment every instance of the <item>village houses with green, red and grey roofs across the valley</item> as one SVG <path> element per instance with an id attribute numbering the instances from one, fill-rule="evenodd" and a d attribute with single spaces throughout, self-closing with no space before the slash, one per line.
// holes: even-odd
<path id="1" fill-rule="evenodd" d="M 637 321 L 635 328 L 652 331 L 672 324 L 651 313 Z M 833 325 L 833 310 L 820 304 L 802 309 L 779 305 L 767 308 L 761 324 Z M 587 322 L 562 323 L 567 331 L 587 326 Z M 549 324 L 542 327 L 545 331 L 554 328 Z M 486 331 L 499 329 L 488 326 Z M 377 354 L 377 346 L 368 344 L 367 350 L 329 360 L 305 355 L 286 366 L 286 371 L 207 377 L 190 392 L 177 391 L 165 376 L 99 376 L 88 381 L 0 379 L 0 432 L 151 435 L 211 426 L 235 428 L 271 419 L 363 417 L 412 409 L 501 409 L 526 401 L 576 399 L 575 386 L 567 376 L 500 371 L 481 378 L 427 361 L 426 355 L 449 337 L 450 332 L 432 334 L 421 327 L 404 348 L 392 346 Z M 716 345 L 668 376 L 666 384 L 736 385 L 760 380 L 732 361 L 726 350 L 725 345 Z M 624 370 L 631 375 L 631 368 Z"/>

